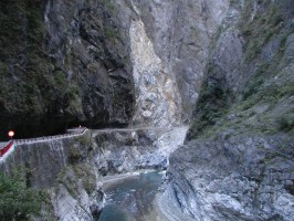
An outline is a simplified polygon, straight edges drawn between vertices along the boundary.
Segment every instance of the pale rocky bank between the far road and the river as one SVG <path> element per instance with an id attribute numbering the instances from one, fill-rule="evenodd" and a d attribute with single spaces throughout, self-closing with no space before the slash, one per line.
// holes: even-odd
<path id="1" fill-rule="evenodd" d="M 93 131 L 96 168 L 102 175 L 165 169 L 169 155 L 183 143 L 187 127 Z"/>

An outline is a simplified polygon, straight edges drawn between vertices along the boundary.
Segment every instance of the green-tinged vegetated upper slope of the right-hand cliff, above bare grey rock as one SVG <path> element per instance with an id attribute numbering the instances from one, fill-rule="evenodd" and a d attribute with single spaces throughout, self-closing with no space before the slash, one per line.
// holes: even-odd
<path id="1" fill-rule="evenodd" d="M 229 82 L 232 73 L 223 73 L 222 66 L 213 61 L 220 53 L 214 50 L 188 139 L 216 133 L 231 136 L 294 131 L 291 12 L 285 4 L 267 1 L 258 1 L 254 9 L 253 2 L 243 6 L 233 30 L 224 27 L 220 31 L 241 30 L 238 38 L 243 42 L 243 55 L 238 64 L 239 76 L 235 83 Z M 239 6 L 237 1 L 233 4 Z"/>

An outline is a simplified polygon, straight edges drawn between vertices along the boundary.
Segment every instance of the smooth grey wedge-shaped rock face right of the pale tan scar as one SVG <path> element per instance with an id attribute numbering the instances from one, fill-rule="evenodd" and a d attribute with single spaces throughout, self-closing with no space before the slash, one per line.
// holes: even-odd
<path id="1" fill-rule="evenodd" d="M 132 1 L 164 73 L 177 83 L 181 119 L 189 120 L 198 98 L 211 39 L 229 0 Z"/>

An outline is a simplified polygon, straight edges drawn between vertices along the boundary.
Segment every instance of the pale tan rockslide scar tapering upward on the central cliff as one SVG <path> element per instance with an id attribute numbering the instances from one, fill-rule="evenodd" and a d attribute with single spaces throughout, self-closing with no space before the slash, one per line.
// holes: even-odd
<path id="1" fill-rule="evenodd" d="M 180 98 L 171 73 L 166 73 L 144 23 L 129 28 L 133 74 L 136 92 L 135 124 L 167 126 L 180 120 Z"/>

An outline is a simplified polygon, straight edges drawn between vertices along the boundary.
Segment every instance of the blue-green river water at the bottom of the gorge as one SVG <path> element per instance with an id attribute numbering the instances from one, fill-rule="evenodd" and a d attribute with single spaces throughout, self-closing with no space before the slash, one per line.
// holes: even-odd
<path id="1" fill-rule="evenodd" d="M 147 221 L 162 172 L 143 172 L 108 185 L 106 207 L 98 221 Z"/>

